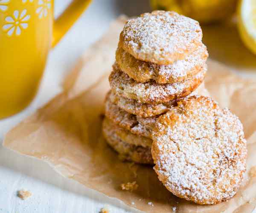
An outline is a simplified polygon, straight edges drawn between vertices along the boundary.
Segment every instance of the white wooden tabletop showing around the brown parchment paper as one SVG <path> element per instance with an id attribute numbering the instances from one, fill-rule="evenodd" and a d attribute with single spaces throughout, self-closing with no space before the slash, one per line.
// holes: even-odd
<path id="1" fill-rule="evenodd" d="M 59 14 L 70 0 L 55 0 Z M 150 11 L 148 0 L 94 0 L 79 21 L 49 54 L 41 88 L 23 112 L 0 121 L 0 141 L 15 124 L 35 112 L 61 92 L 61 81 L 84 50 L 108 29 L 119 14 L 129 16 Z M 27 189 L 32 197 L 23 201 L 17 190 Z M 108 205 L 111 213 L 132 211 L 75 181 L 61 177 L 46 163 L 20 156 L 0 146 L 0 213 L 98 213 Z"/>

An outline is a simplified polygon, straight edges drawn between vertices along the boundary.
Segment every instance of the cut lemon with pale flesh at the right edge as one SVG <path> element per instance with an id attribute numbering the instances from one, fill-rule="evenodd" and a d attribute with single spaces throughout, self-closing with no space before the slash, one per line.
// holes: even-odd
<path id="1" fill-rule="evenodd" d="M 256 0 L 240 0 L 238 29 L 244 45 L 256 54 Z"/>

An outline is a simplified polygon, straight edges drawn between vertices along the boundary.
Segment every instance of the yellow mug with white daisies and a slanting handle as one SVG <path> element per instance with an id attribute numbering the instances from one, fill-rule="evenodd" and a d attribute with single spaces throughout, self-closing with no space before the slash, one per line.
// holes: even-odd
<path id="1" fill-rule="evenodd" d="M 54 0 L 0 0 L 0 118 L 34 98 L 49 49 L 91 0 L 73 0 L 54 20 Z"/>

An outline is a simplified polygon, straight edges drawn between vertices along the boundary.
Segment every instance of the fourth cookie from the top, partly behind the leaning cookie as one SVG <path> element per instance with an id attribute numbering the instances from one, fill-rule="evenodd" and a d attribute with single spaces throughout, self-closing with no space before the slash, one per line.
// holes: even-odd
<path id="1" fill-rule="evenodd" d="M 203 82 L 190 95 L 209 96 L 209 92 L 207 91 L 207 89 L 205 89 L 204 82 Z M 125 98 L 120 95 L 116 95 L 113 92 L 110 93 L 109 98 L 112 103 L 116 104 L 121 109 L 131 114 L 138 115 L 142 118 L 160 115 L 168 111 L 169 107 L 172 107 L 176 103 L 176 99 L 175 99 L 175 100 L 165 102 L 165 103 L 160 103 L 160 104 L 144 104 L 144 103 L 139 103 L 134 99 Z"/>

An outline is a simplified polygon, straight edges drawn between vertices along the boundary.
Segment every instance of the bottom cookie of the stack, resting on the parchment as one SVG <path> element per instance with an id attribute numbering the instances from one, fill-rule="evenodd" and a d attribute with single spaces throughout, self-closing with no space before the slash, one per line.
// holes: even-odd
<path id="1" fill-rule="evenodd" d="M 119 157 L 127 161 L 134 161 L 140 164 L 153 164 L 150 147 L 136 146 L 128 144 L 109 128 L 106 120 L 103 120 L 102 133 L 107 143 L 119 153 Z"/>

